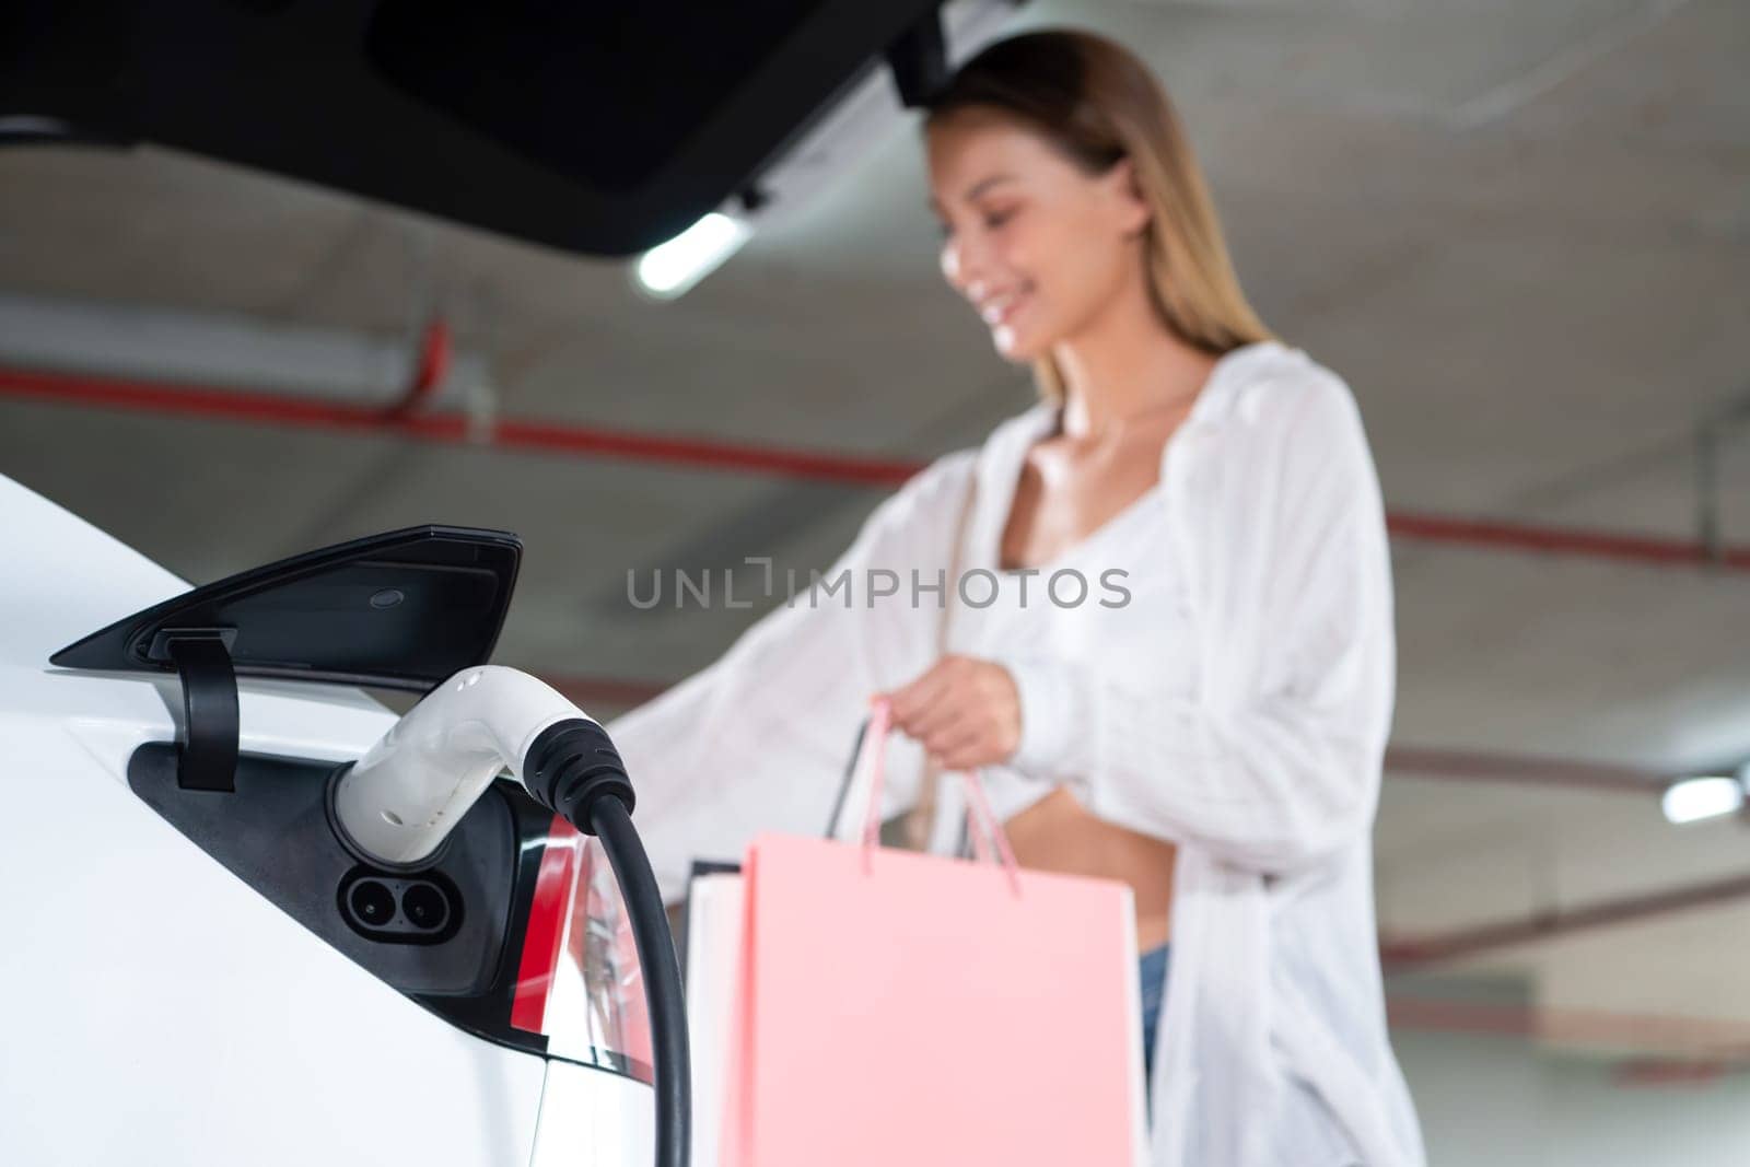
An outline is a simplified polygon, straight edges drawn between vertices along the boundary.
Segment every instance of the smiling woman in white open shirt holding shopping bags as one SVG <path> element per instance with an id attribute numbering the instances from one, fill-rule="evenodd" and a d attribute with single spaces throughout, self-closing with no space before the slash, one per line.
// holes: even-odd
<path id="1" fill-rule="evenodd" d="M 1024 866 L 1136 891 L 1155 1164 L 1419 1164 L 1372 913 L 1391 581 L 1354 402 L 1248 308 L 1122 47 L 992 45 L 926 131 L 943 273 L 1041 402 L 875 511 L 826 577 L 849 607 L 798 597 L 612 728 L 660 875 L 819 829 L 886 693 L 984 770 Z M 948 565 L 998 586 L 959 588 L 943 653 Z M 864 595 L 878 572 L 912 586 Z"/>

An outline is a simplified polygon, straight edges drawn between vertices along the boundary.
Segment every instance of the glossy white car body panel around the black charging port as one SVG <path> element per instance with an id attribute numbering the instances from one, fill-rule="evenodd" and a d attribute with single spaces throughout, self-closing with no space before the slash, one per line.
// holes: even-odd
<path id="1" fill-rule="evenodd" d="M 649 1087 L 448 1024 L 136 798 L 177 679 L 47 658 L 186 581 L 4 478 L 0 528 L 0 1164 L 522 1167 L 542 1118 L 542 1164 L 648 1162 Z M 341 761 L 396 721 L 343 686 L 240 688 L 252 752 Z"/>

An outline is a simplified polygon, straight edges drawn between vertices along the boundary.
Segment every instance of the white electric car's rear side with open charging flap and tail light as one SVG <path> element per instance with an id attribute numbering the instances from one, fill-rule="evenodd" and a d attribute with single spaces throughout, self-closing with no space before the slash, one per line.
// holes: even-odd
<path id="1" fill-rule="evenodd" d="M 189 590 L 7 478 L 0 530 L 0 1164 L 653 1162 L 602 842 L 497 761 L 424 861 L 336 817 L 397 726 L 355 686 L 511 672 L 466 670 L 513 535 L 392 532 Z"/>

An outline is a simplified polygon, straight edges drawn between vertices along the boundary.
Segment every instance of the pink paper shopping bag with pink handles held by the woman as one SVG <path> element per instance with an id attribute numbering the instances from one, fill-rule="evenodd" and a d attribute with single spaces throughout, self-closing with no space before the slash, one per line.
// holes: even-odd
<path id="1" fill-rule="evenodd" d="M 723 1167 L 1141 1164 L 1130 889 L 1018 871 L 987 810 L 1001 864 L 880 849 L 873 817 L 747 849 Z"/>

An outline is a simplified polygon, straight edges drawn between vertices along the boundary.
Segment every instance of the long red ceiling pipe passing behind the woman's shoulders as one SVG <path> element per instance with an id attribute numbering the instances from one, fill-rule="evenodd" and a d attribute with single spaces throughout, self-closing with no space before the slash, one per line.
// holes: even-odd
<path id="1" fill-rule="evenodd" d="M 852 486 L 896 486 L 922 469 L 915 458 L 816 453 L 775 446 L 752 446 L 716 439 L 656 437 L 598 425 L 564 422 L 492 422 L 474 432 L 458 415 L 410 415 L 355 406 L 334 406 L 262 394 L 245 394 L 205 385 L 164 385 L 117 378 L 0 369 L 0 397 L 24 397 L 136 409 L 172 416 L 224 418 L 312 429 L 376 430 L 418 441 L 478 441 L 532 453 L 572 453 L 630 458 L 691 469 L 744 471 Z M 1386 527 L 1398 539 L 1498 551 L 1535 551 L 1659 567 L 1724 567 L 1750 570 L 1750 548 L 1722 548 L 1718 555 L 1699 541 L 1614 535 L 1606 532 L 1524 523 L 1496 523 L 1438 514 L 1395 511 Z"/>

